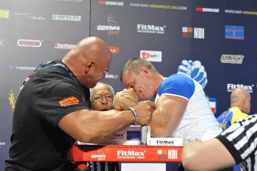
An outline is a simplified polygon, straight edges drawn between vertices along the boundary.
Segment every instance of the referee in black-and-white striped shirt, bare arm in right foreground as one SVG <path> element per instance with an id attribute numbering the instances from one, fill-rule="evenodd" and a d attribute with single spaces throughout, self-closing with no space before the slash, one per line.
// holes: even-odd
<path id="1" fill-rule="evenodd" d="M 216 138 L 187 143 L 182 164 L 188 170 L 220 170 L 240 163 L 241 170 L 257 170 L 257 113 L 239 119 Z"/>

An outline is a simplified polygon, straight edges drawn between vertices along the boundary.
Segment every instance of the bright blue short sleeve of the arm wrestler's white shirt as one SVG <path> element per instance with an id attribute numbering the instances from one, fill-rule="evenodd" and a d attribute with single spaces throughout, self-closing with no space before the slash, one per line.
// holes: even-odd
<path id="1" fill-rule="evenodd" d="M 158 94 L 174 94 L 186 97 L 188 100 L 195 92 L 194 81 L 184 74 L 173 74 L 164 79 Z"/>

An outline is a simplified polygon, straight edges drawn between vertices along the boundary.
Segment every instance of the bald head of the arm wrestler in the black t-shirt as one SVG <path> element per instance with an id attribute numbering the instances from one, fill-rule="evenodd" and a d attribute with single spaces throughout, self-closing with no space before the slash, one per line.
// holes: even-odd
<path id="1" fill-rule="evenodd" d="M 106 43 L 98 37 L 88 37 L 81 40 L 62 59 L 78 81 L 92 88 L 105 78 L 110 67 L 112 54 Z"/>

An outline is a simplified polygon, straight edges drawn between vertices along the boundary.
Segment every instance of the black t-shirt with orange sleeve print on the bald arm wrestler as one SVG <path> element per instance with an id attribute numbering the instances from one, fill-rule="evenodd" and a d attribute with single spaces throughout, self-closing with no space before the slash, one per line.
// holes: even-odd
<path id="1" fill-rule="evenodd" d="M 25 84 L 13 113 L 13 132 L 5 170 L 62 170 L 67 150 L 75 140 L 58 122 L 70 112 L 91 109 L 90 92 L 77 84 L 67 69 L 40 69 Z"/>

